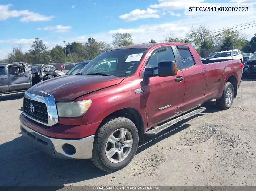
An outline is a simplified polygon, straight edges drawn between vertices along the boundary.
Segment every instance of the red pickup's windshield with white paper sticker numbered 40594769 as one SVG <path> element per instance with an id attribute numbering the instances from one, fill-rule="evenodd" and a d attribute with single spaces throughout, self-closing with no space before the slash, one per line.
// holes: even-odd
<path id="1" fill-rule="evenodd" d="M 91 60 L 79 73 L 130 76 L 147 50 L 148 48 L 132 48 L 106 51 Z"/>

